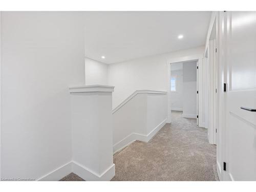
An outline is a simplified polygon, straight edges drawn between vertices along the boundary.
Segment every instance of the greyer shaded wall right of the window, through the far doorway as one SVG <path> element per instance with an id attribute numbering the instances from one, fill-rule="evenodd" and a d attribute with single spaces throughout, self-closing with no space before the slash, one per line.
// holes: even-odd
<path id="1" fill-rule="evenodd" d="M 197 61 L 183 62 L 183 116 L 197 117 Z"/>

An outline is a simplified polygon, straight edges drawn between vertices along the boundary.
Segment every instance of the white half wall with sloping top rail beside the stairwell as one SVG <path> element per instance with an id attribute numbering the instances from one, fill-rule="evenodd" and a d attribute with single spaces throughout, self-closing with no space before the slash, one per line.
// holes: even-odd
<path id="1" fill-rule="evenodd" d="M 134 92 L 113 111 L 114 152 L 134 140 L 149 141 L 166 123 L 166 92 Z"/>

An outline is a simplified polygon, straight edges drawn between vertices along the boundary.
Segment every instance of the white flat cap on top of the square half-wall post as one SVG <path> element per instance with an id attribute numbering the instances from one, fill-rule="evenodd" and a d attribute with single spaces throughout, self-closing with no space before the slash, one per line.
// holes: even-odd
<path id="1" fill-rule="evenodd" d="M 79 87 L 70 87 L 70 93 L 84 93 L 84 92 L 114 92 L 114 86 L 102 86 L 96 84 L 94 86 L 79 86 Z"/>

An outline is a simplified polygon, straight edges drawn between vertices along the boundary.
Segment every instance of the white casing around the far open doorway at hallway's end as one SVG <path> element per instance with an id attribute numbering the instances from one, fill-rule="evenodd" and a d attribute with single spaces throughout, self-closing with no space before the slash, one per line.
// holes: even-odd
<path id="1" fill-rule="evenodd" d="M 170 70 L 170 65 L 171 63 L 174 62 L 185 62 L 185 61 L 191 61 L 191 60 L 198 60 L 199 62 L 199 69 L 200 65 L 202 65 L 202 60 L 203 60 L 203 54 L 197 54 L 197 55 L 190 55 L 190 56 L 184 56 L 184 57 L 177 57 L 177 58 L 172 58 L 167 61 L 167 123 L 171 123 L 171 111 L 172 111 L 172 106 L 171 106 L 171 93 L 170 93 L 170 76 L 171 76 L 171 70 Z M 202 91 L 201 91 L 202 92 Z M 199 92 L 199 94 L 202 94 Z M 200 97 L 201 98 L 201 97 Z M 199 101 L 201 103 L 203 101 Z M 199 109 L 202 104 L 199 104 Z M 199 116 L 199 126 L 200 126 L 200 119 L 202 117 Z"/>

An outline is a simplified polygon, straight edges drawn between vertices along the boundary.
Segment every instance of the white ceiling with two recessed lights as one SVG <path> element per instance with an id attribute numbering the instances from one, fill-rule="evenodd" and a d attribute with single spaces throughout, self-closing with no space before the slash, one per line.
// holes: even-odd
<path id="1" fill-rule="evenodd" d="M 85 56 L 116 63 L 202 46 L 210 14 L 209 11 L 86 12 Z M 184 38 L 178 39 L 179 34 Z"/>

